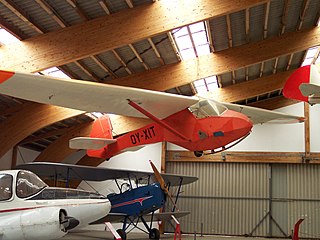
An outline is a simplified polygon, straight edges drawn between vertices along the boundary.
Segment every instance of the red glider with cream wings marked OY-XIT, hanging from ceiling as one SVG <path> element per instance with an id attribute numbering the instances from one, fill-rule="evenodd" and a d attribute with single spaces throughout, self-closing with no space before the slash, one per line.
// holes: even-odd
<path id="1" fill-rule="evenodd" d="M 92 157 L 109 159 L 156 142 L 167 141 L 202 156 L 203 151 L 223 151 L 251 132 L 253 124 L 303 118 L 254 107 L 219 103 L 197 96 L 0 71 L 0 94 L 87 112 L 147 117 L 153 123 L 113 139 L 108 119 L 91 137 L 70 141 L 71 148 L 87 149 Z M 101 125 L 103 124 L 103 125 Z"/>

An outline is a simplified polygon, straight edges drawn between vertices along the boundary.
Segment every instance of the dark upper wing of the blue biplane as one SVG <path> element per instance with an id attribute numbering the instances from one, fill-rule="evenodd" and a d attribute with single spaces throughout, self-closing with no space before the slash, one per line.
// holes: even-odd
<path id="1" fill-rule="evenodd" d="M 58 178 L 68 180 L 87 180 L 87 181 L 104 181 L 114 179 L 136 178 L 142 179 L 150 176 L 151 181 L 155 182 L 153 172 L 143 172 L 134 170 L 112 169 L 89 167 L 53 162 L 31 162 L 16 166 L 17 169 L 24 169 L 34 172 L 40 177 Z M 167 184 L 170 186 L 179 186 L 190 184 L 198 180 L 197 177 L 184 176 L 176 174 L 162 173 Z"/>

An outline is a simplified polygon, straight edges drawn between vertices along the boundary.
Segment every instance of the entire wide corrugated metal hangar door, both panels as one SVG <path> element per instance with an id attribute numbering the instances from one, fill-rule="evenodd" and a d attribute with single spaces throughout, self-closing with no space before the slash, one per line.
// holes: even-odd
<path id="1" fill-rule="evenodd" d="M 191 211 L 180 219 L 185 233 L 287 237 L 305 218 L 300 236 L 320 237 L 320 166 L 167 162 L 166 170 L 199 177 L 178 202 Z"/>

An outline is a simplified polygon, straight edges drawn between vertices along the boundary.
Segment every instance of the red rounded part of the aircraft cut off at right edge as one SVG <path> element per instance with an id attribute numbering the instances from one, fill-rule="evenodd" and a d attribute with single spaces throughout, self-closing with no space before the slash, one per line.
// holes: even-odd
<path id="1" fill-rule="evenodd" d="M 310 82 L 310 65 L 303 66 L 294 71 L 287 79 L 283 87 L 283 95 L 286 98 L 308 102 L 308 97 L 302 95 L 299 86 L 301 83 Z"/>

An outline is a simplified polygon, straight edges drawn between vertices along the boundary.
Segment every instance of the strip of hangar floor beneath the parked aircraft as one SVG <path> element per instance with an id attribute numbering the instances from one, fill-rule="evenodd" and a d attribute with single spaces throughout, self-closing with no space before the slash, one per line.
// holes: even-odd
<path id="1" fill-rule="evenodd" d="M 102 240 L 108 239 L 113 240 L 113 236 L 109 231 L 98 231 L 98 230 L 82 230 L 78 232 L 68 233 L 62 239 L 65 240 Z M 143 233 L 129 233 L 127 236 L 128 240 L 148 240 L 147 234 Z M 174 239 L 173 234 L 161 235 L 161 239 Z M 203 236 L 200 235 L 182 235 L 183 240 L 266 240 L 267 238 L 257 238 L 257 237 L 230 237 L 230 236 Z M 269 238 L 270 239 L 270 238 Z M 272 238 L 273 240 L 279 240 Z M 283 240 L 283 238 L 281 239 Z"/>

